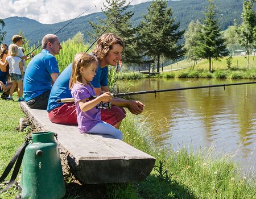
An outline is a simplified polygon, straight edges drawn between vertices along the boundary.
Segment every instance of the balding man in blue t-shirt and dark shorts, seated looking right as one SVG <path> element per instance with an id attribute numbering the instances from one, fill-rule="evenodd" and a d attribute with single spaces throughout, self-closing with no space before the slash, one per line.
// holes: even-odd
<path id="1" fill-rule="evenodd" d="M 24 76 L 24 98 L 32 109 L 47 109 L 52 85 L 59 77 L 59 67 L 55 55 L 59 55 L 61 45 L 56 35 L 48 34 L 42 40 L 43 50 L 27 65 Z"/>

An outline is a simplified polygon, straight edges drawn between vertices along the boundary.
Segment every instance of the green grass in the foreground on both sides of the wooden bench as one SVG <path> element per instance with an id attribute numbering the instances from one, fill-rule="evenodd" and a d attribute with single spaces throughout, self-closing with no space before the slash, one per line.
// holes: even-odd
<path id="1" fill-rule="evenodd" d="M 19 118 L 24 114 L 18 102 L 0 100 L 0 173 L 30 130 L 18 132 Z M 214 156 L 212 148 L 194 152 L 181 147 L 179 151 L 154 146 L 150 128 L 138 125 L 128 114 L 121 131 L 125 142 L 156 157 L 155 168 L 140 183 L 79 185 L 66 178 L 65 198 L 255 198 L 255 175 L 243 175 L 226 154 Z M 10 178 L 10 176 L 9 176 Z M 0 198 L 14 198 L 15 188 L 0 193 Z"/>

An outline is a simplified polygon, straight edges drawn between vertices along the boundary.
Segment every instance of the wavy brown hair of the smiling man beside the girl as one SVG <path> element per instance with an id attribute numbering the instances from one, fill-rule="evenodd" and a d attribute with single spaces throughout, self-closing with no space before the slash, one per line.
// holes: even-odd
<path id="1" fill-rule="evenodd" d="M 98 41 L 97 45 L 93 50 L 93 55 L 95 55 L 98 60 L 101 60 L 106 56 L 110 49 L 112 49 L 113 44 L 120 44 L 125 48 L 123 40 L 113 33 L 106 33 L 102 35 Z"/>

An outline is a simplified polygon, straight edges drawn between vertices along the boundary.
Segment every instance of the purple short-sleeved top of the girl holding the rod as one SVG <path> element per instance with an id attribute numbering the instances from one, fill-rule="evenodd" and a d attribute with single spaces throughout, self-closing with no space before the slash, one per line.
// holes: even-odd
<path id="1" fill-rule="evenodd" d="M 83 112 L 79 107 L 78 102 L 80 100 L 96 95 L 91 86 L 85 86 L 84 84 L 76 82 L 71 90 L 71 94 L 76 103 L 77 123 L 79 125 L 80 132 L 88 132 L 92 127 L 97 125 L 97 123 L 102 122 L 100 109 L 93 107 L 92 109 Z"/>

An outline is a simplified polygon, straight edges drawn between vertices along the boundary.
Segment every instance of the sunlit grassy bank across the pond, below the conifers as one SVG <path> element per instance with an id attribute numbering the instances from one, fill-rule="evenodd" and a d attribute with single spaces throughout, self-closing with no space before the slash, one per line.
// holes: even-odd
<path id="1" fill-rule="evenodd" d="M 193 62 L 188 60 L 182 60 L 175 64 L 168 65 L 160 68 L 160 74 L 156 76 L 143 75 L 139 72 L 126 72 L 119 73 L 119 80 L 136 80 L 147 77 L 156 78 L 229 78 L 229 79 L 255 79 L 256 78 L 256 60 L 253 61 L 253 56 L 249 57 L 249 71 L 246 70 L 246 59 L 244 56 L 233 57 L 230 68 L 226 65 L 226 59 L 224 57 L 219 61 L 213 60 L 212 71 L 209 72 L 209 61 L 199 60 L 195 67 Z"/>

